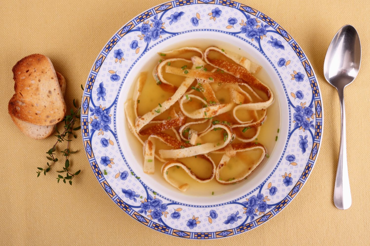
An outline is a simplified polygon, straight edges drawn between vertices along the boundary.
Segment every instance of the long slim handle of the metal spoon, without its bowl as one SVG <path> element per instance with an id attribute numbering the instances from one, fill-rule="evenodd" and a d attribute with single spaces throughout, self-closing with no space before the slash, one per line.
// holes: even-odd
<path id="1" fill-rule="evenodd" d="M 334 204 L 339 209 L 351 207 L 352 198 L 348 178 L 347 145 L 346 145 L 346 112 L 344 110 L 344 88 L 338 88 L 341 111 L 340 148 L 337 167 L 337 176 L 334 186 Z"/>

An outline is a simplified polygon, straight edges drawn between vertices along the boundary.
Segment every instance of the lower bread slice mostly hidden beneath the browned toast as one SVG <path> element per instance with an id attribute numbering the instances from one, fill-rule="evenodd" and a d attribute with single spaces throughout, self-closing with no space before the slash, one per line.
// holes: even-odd
<path id="1" fill-rule="evenodd" d="M 67 83 L 65 83 L 64 76 L 61 73 L 57 73 L 58 83 L 62 94 L 65 94 L 65 87 Z M 55 125 L 47 125 L 47 126 L 40 126 L 34 125 L 25 121 L 21 121 L 20 119 L 16 118 L 14 115 L 10 114 L 11 119 L 13 120 L 14 124 L 23 132 L 25 135 L 29 136 L 33 139 L 44 139 L 50 136 L 55 129 Z"/>

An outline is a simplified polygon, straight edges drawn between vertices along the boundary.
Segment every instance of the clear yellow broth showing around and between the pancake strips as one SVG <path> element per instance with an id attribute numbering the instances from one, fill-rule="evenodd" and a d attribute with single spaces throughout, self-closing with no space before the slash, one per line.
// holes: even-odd
<path id="1" fill-rule="evenodd" d="M 200 48 L 202 50 L 205 50 L 205 48 L 207 48 L 209 46 L 217 46 L 217 47 L 223 48 L 223 49 L 225 49 L 225 47 L 226 47 L 226 49 L 225 49 L 226 51 L 239 53 L 239 54 L 245 56 L 246 58 L 251 58 L 250 55 L 248 55 L 248 53 L 246 53 L 243 50 L 240 50 L 239 48 L 236 48 L 235 46 L 232 46 L 232 45 L 227 44 L 227 43 L 222 42 L 222 41 L 215 41 L 215 40 L 212 40 L 212 39 L 202 39 L 201 42 L 199 40 L 195 39 L 195 40 L 186 41 L 186 43 L 179 43 L 179 44 L 176 44 L 176 45 L 170 45 L 163 52 L 170 51 L 170 50 L 173 50 L 173 49 L 179 49 L 179 48 L 182 48 L 182 47 L 197 47 L 197 48 Z M 194 54 L 194 55 L 196 55 L 196 54 Z M 139 97 L 140 103 L 138 104 L 138 115 L 144 115 L 148 111 L 151 111 L 153 108 L 157 107 L 159 103 L 163 103 L 165 100 L 167 100 L 169 97 L 171 97 L 173 95 L 173 93 L 168 93 L 168 92 L 165 92 L 164 90 L 162 90 L 161 87 L 157 85 L 157 81 L 155 81 L 155 79 L 152 76 L 152 69 L 154 68 L 154 66 L 156 66 L 158 64 L 158 61 L 161 58 L 162 57 L 160 57 L 158 55 L 157 57 L 155 57 L 151 60 L 145 61 L 145 64 L 142 66 L 142 68 L 143 68 L 142 72 L 147 72 L 148 76 L 147 76 L 147 80 L 145 82 L 144 88 L 142 90 L 142 93 Z M 142 62 L 144 62 L 144 61 L 142 61 Z M 176 63 L 178 63 L 178 62 L 176 62 Z M 176 64 L 171 63 L 171 65 L 176 65 Z M 187 65 L 187 67 L 189 67 L 189 68 L 192 66 L 192 64 L 188 64 L 186 62 L 184 63 L 184 65 Z M 177 64 L 177 66 L 179 66 L 179 64 Z M 147 69 L 147 70 L 145 70 L 145 69 Z M 270 89 L 273 90 L 273 93 L 275 92 L 273 83 L 272 83 L 270 77 L 268 76 L 268 74 L 266 73 L 265 69 L 263 69 L 263 67 L 257 74 L 255 74 L 255 76 L 260 81 L 262 81 L 267 86 L 269 86 Z M 182 80 L 184 79 L 184 77 L 177 76 L 177 75 L 171 75 L 171 74 L 165 74 L 165 79 L 168 80 L 168 81 L 171 81 L 171 82 L 172 81 L 177 81 L 176 83 L 174 83 L 174 85 L 179 86 L 181 84 Z M 193 83 L 193 85 L 196 85 L 196 81 Z M 227 103 L 227 102 L 231 101 L 231 98 L 230 98 L 229 94 L 225 93 L 226 90 L 222 90 L 222 89 L 220 90 L 220 88 L 218 88 L 220 86 L 218 86 L 218 84 L 216 84 L 216 83 L 211 84 L 211 86 L 212 86 L 212 89 L 214 89 L 216 91 L 215 94 L 216 94 L 217 98 L 220 98 L 219 99 L 220 103 Z M 135 88 L 135 83 L 132 84 L 131 91 L 134 91 L 134 88 Z M 199 93 L 199 96 L 202 98 L 201 95 L 202 94 Z M 195 101 L 195 102 L 192 102 L 192 104 L 189 104 L 189 105 L 185 104 L 185 109 L 186 108 L 189 108 L 189 109 L 192 108 L 192 107 L 190 107 L 190 105 L 192 105 L 192 107 L 194 106 L 194 107 L 197 107 L 197 108 L 202 107 L 201 102 L 199 100 Z M 175 108 L 176 112 L 180 111 L 178 103 L 176 103 L 171 108 Z M 167 119 L 169 117 L 169 111 L 170 110 L 167 110 L 167 111 L 163 112 L 162 114 L 155 117 L 153 120 Z M 229 114 L 228 117 L 230 117 L 230 113 L 228 112 L 227 114 Z M 240 118 L 242 118 L 243 120 L 251 118 L 250 114 L 247 114 L 247 113 L 245 115 L 243 115 L 242 112 L 238 112 L 238 115 L 240 115 Z M 226 117 L 226 119 L 227 119 L 227 117 Z M 204 125 L 203 125 L 203 127 L 204 127 Z M 203 128 L 203 127 L 199 126 L 199 128 Z M 259 142 L 259 143 L 261 143 L 262 145 L 264 145 L 266 147 L 267 152 L 270 156 L 271 156 L 272 151 L 275 147 L 275 143 L 276 143 L 275 136 L 277 134 L 276 131 L 279 127 L 280 127 L 280 108 L 279 108 L 278 102 L 275 100 L 273 102 L 273 104 L 268 108 L 267 118 L 266 118 L 264 124 L 261 126 L 261 130 L 260 130 L 260 133 L 258 135 L 258 140 L 256 141 L 256 142 Z M 178 129 L 178 128 L 176 128 L 176 129 Z M 244 134 L 243 135 L 244 137 L 252 136 L 255 133 L 255 129 L 248 129 L 244 133 L 241 132 L 242 130 L 243 130 L 243 128 L 234 129 L 234 131 L 240 131 L 238 134 L 241 134 L 241 135 Z M 136 155 L 137 155 L 137 157 L 139 157 L 138 160 L 140 160 L 138 164 L 142 166 L 142 162 L 144 160 L 144 157 L 143 157 L 143 154 L 142 154 L 143 153 L 142 152 L 142 145 L 133 136 L 133 134 L 131 134 L 128 127 L 127 127 L 126 131 L 127 131 L 127 136 L 129 138 L 129 141 L 130 142 L 135 142 L 135 143 L 130 144 L 130 146 L 132 148 L 132 152 L 137 153 Z M 217 141 L 220 141 L 222 143 L 223 142 L 223 136 L 220 137 L 220 134 L 216 134 L 217 132 L 218 131 L 210 132 L 210 134 L 208 134 L 208 136 L 205 136 L 204 139 L 207 140 L 207 141 L 210 141 L 210 142 L 215 141 L 215 139 L 217 139 Z M 169 130 L 166 131 L 166 133 L 169 133 Z M 171 134 L 171 135 L 174 136 L 174 134 Z M 155 141 L 155 144 L 156 144 L 156 153 L 157 154 L 158 154 L 158 150 L 161 149 L 161 148 L 162 149 L 171 149 L 171 147 L 169 147 L 168 145 L 166 145 L 166 144 L 164 144 L 160 141 Z M 246 169 L 248 169 L 250 167 L 251 163 L 253 163 L 253 161 L 255 161 L 256 158 L 259 158 L 260 153 L 261 153 L 260 150 L 252 150 L 252 151 L 248 151 L 247 153 L 238 153 L 235 157 L 232 157 L 230 162 L 226 165 L 226 167 L 223 168 L 222 172 L 220 173 L 221 179 L 228 180 L 228 179 L 233 178 L 233 177 L 237 178 L 240 173 L 242 173 L 243 171 L 245 171 Z M 217 164 L 221 160 L 222 154 L 209 153 L 209 156 L 212 158 L 212 160 L 215 162 L 215 164 L 217 166 Z M 266 162 L 267 160 L 265 160 L 264 162 Z M 212 171 L 212 167 L 208 163 L 205 163 L 205 161 L 202 160 L 202 158 L 196 158 L 196 157 L 192 156 L 192 157 L 182 158 L 182 160 L 180 160 L 180 161 L 186 162 L 186 165 L 191 169 L 191 171 L 193 171 L 196 175 L 198 175 L 201 178 L 209 177 L 209 175 Z M 164 186 L 167 186 L 168 188 L 172 188 L 173 190 L 176 190 L 179 193 L 181 193 L 181 191 L 177 190 L 175 187 L 172 187 L 162 177 L 161 167 L 162 167 L 163 163 L 160 162 L 157 159 L 155 159 L 154 162 L 155 162 L 155 173 L 152 174 L 152 176 L 154 176 L 155 180 L 164 184 Z M 256 172 L 259 171 L 258 169 L 259 168 L 257 168 Z M 246 182 L 248 182 L 248 180 L 245 180 L 245 181 L 242 181 L 242 182 L 240 182 L 238 184 L 234 184 L 234 185 L 232 185 L 232 184 L 222 185 L 222 184 L 219 184 L 215 179 L 213 179 L 213 180 L 209 181 L 208 183 L 198 183 L 197 181 L 195 181 L 194 179 L 189 177 L 188 174 L 186 174 L 186 172 L 182 168 L 177 168 L 176 166 L 171 167 L 170 169 L 168 169 L 168 174 L 166 174 L 166 175 L 170 175 L 171 179 L 176 179 L 176 180 L 179 180 L 183 183 L 188 183 L 189 184 L 188 190 L 186 190 L 185 193 L 183 193 L 183 194 L 194 195 L 194 196 L 202 196 L 202 197 L 212 196 L 212 192 L 214 192 L 215 195 L 225 194 L 228 191 L 235 190 L 236 188 L 238 188 L 240 186 L 243 186 L 243 185 L 246 184 Z"/>

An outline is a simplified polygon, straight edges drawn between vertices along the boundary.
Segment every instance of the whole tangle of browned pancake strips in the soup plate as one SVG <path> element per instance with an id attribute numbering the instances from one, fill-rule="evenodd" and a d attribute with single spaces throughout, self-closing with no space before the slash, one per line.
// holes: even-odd
<path id="1" fill-rule="evenodd" d="M 192 180 L 245 180 L 266 157 L 256 141 L 274 100 L 252 75 L 259 70 L 217 47 L 159 53 L 152 76 L 140 73 L 125 103 L 128 128 L 143 146 L 144 172 L 154 174 L 156 163 L 164 163 L 162 176 L 182 192 Z"/>

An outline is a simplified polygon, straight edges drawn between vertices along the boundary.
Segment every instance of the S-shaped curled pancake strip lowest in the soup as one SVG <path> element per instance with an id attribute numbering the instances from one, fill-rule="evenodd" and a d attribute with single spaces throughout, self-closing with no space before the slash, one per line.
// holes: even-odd
<path id="1" fill-rule="evenodd" d="M 212 174 L 211 176 L 205 178 L 205 179 L 202 179 L 200 177 L 198 177 L 195 173 L 193 173 L 184 163 L 178 161 L 178 160 L 169 160 L 168 162 L 165 162 L 162 166 L 162 175 L 164 177 L 164 179 L 169 183 L 171 184 L 172 186 L 178 188 L 180 191 L 182 192 L 185 192 L 188 187 L 189 187 L 189 184 L 185 183 L 183 184 L 182 182 L 179 182 L 178 180 L 175 180 L 175 179 L 171 179 L 170 178 L 170 175 L 168 174 L 168 169 L 170 167 L 173 167 L 173 166 L 178 166 L 178 167 L 181 167 L 182 169 L 185 170 L 185 172 L 194 180 L 198 181 L 199 183 L 206 183 L 206 182 L 209 182 L 211 181 L 214 177 L 215 177 L 215 173 L 216 173 L 216 165 L 215 163 L 213 162 L 213 160 L 208 156 L 208 155 L 199 155 L 198 158 L 203 158 L 205 160 L 208 160 L 209 164 L 212 165 Z"/>

